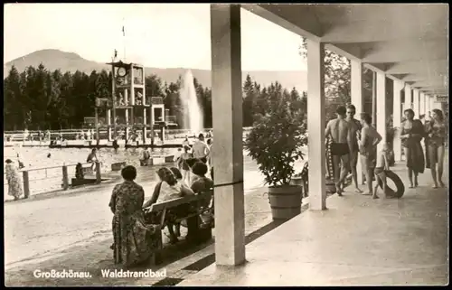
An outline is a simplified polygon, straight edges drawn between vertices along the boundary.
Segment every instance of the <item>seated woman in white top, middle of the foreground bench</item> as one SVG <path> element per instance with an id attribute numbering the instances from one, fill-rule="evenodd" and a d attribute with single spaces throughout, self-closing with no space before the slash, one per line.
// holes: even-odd
<path id="1" fill-rule="evenodd" d="M 174 199 L 178 199 L 180 197 L 184 197 L 186 195 L 194 194 L 190 188 L 183 186 L 180 182 L 177 182 L 177 179 L 175 178 L 174 174 L 168 168 L 166 167 L 160 168 L 157 171 L 157 175 L 160 179 L 160 182 L 158 182 L 155 185 L 154 193 L 151 199 L 149 201 L 146 201 L 146 203 L 143 206 L 144 208 L 149 207 L 154 203 L 171 201 Z M 184 215 L 188 208 L 189 208 L 188 205 L 183 204 L 177 207 L 176 209 L 171 210 L 170 212 L 167 213 L 168 219 L 174 219 L 177 218 L 178 216 Z M 151 220 L 152 219 L 153 218 L 151 217 Z M 167 228 L 170 234 L 169 237 L 170 242 L 171 243 L 177 242 L 178 235 L 174 233 L 173 225 L 169 225 Z M 180 232 L 178 232 L 178 234 L 180 234 Z"/>

